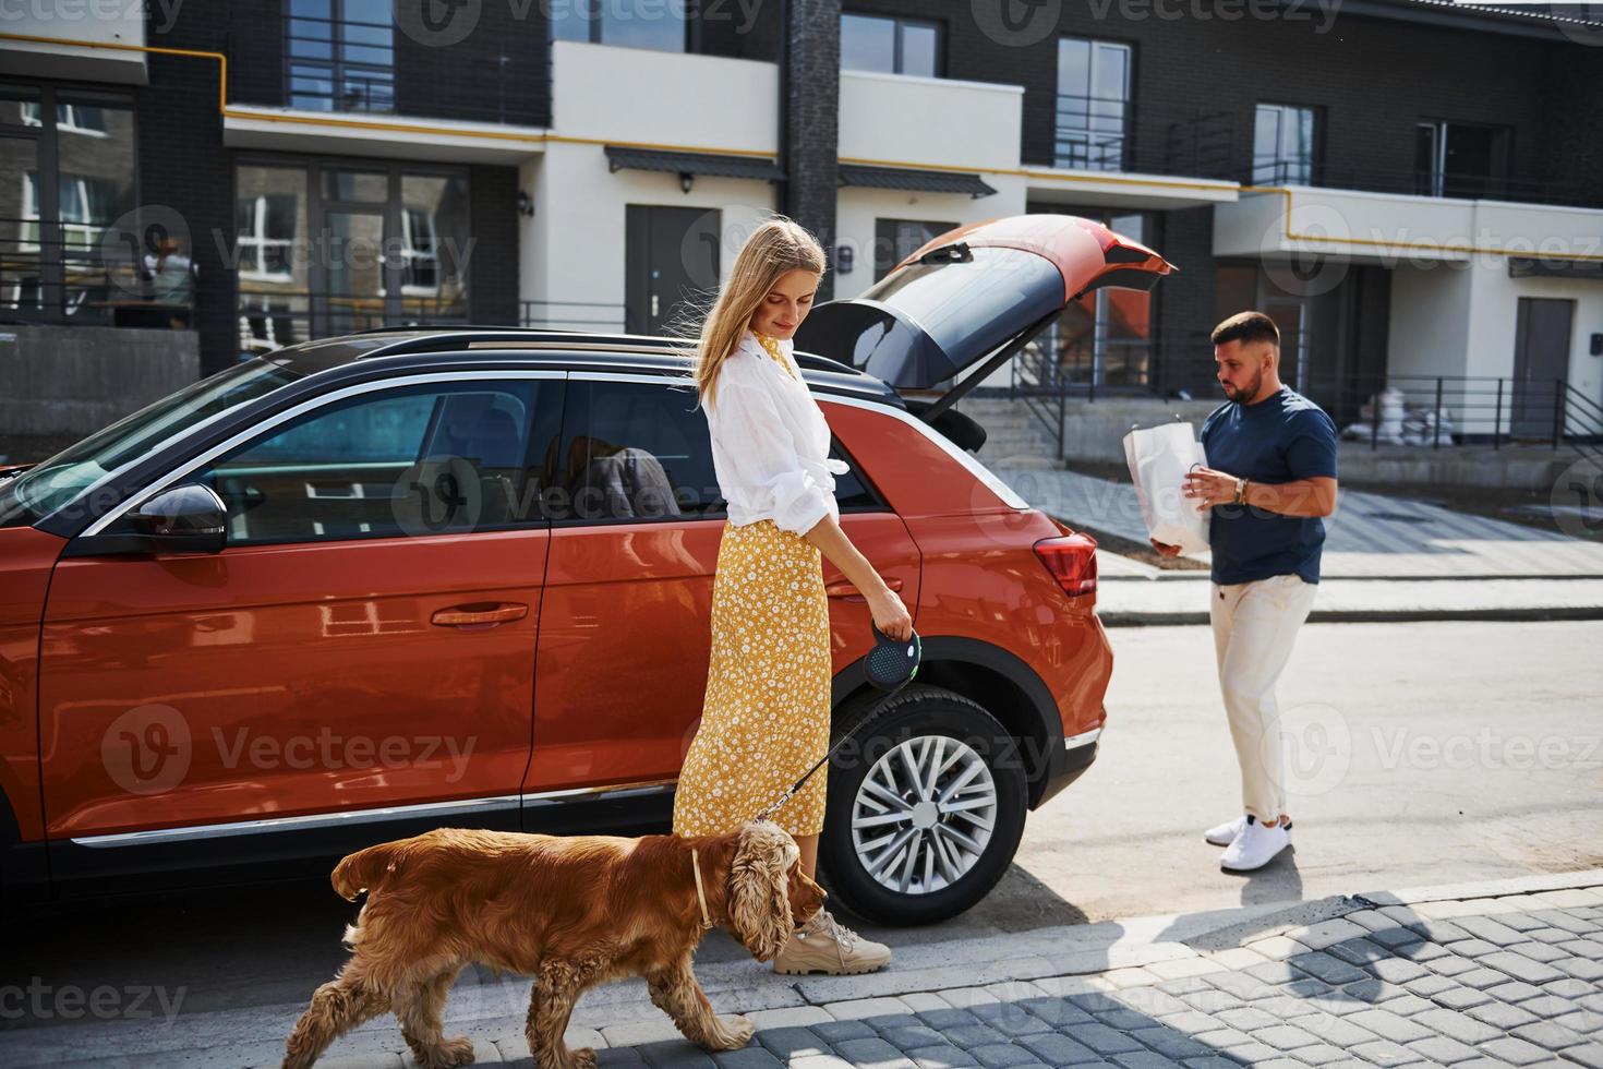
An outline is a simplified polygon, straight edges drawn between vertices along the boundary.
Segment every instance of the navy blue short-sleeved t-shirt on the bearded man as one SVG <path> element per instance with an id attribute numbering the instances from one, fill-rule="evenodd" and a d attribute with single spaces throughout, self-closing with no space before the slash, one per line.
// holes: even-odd
<path id="1" fill-rule="evenodd" d="M 1254 482 L 1335 478 L 1335 422 L 1290 386 L 1257 404 L 1230 401 L 1202 423 L 1207 466 Z M 1213 582 L 1250 583 L 1271 575 L 1319 582 L 1324 521 L 1217 505 L 1209 532 Z"/>

